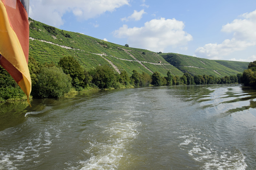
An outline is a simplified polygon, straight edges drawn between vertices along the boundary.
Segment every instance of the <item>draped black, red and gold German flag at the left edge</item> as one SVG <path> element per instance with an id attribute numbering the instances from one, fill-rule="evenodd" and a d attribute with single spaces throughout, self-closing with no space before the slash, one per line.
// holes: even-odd
<path id="1" fill-rule="evenodd" d="M 0 0 L 0 64 L 28 97 L 31 78 L 28 70 L 29 0 Z"/>

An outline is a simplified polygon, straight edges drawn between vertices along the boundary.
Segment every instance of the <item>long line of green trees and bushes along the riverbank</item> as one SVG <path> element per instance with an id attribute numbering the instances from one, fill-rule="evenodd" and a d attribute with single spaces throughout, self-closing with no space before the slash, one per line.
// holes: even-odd
<path id="1" fill-rule="evenodd" d="M 168 71 L 163 77 L 159 72 L 149 75 L 145 72 L 132 71 L 132 75 L 123 70 L 117 73 L 107 65 L 99 65 L 95 69 L 84 70 L 72 56 L 65 56 L 58 64 L 38 63 L 29 58 L 28 67 L 32 81 L 31 98 L 59 98 L 65 93 L 92 89 L 118 89 L 140 86 L 159 85 L 199 85 L 244 83 L 256 86 L 256 61 L 251 62 L 243 74 L 216 77 L 212 75 L 173 76 Z M 0 101 L 26 100 L 26 95 L 12 79 L 9 73 L 0 66 Z"/>

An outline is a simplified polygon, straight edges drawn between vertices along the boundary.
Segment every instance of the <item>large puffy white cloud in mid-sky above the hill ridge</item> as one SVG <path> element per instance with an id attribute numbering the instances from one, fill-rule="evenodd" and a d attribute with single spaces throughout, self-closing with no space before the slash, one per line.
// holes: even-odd
<path id="1" fill-rule="evenodd" d="M 130 47 L 163 52 L 167 47 L 183 46 L 193 39 L 190 34 L 183 31 L 184 26 L 182 21 L 174 18 L 152 19 L 140 28 L 128 28 L 127 25 L 123 25 L 113 34 L 117 38 L 127 38 Z"/>

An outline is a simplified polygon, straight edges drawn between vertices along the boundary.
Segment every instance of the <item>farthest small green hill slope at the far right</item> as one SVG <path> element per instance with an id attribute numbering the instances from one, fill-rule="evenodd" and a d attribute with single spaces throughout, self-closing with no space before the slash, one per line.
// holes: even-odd
<path id="1" fill-rule="evenodd" d="M 226 60 L 214 60 L 215 62 L 224 65 L 232 70 L 236 70 L 239 72 L 243 72 L 248 69 L 248 65 L 250 62 L 238 62 L 238 61 L 226 61 Z"/>

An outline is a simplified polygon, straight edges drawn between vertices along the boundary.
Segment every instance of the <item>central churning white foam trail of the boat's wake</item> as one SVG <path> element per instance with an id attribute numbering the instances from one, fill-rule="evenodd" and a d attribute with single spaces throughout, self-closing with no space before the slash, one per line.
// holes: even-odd
<path id="1" fill-rule="evenodd" d="M 102 142 L 92 141 L 91 147 L 84 150 L 90 154 L 90 159 L 80 161 L 81 170 L 118 169 L 120 161 L 125 160 L 126 149 L 139 132 L 136 127 L 140 122 L 117 118 L 117 122 L 110 123 L 102 132 L 107 138 Z"/>

